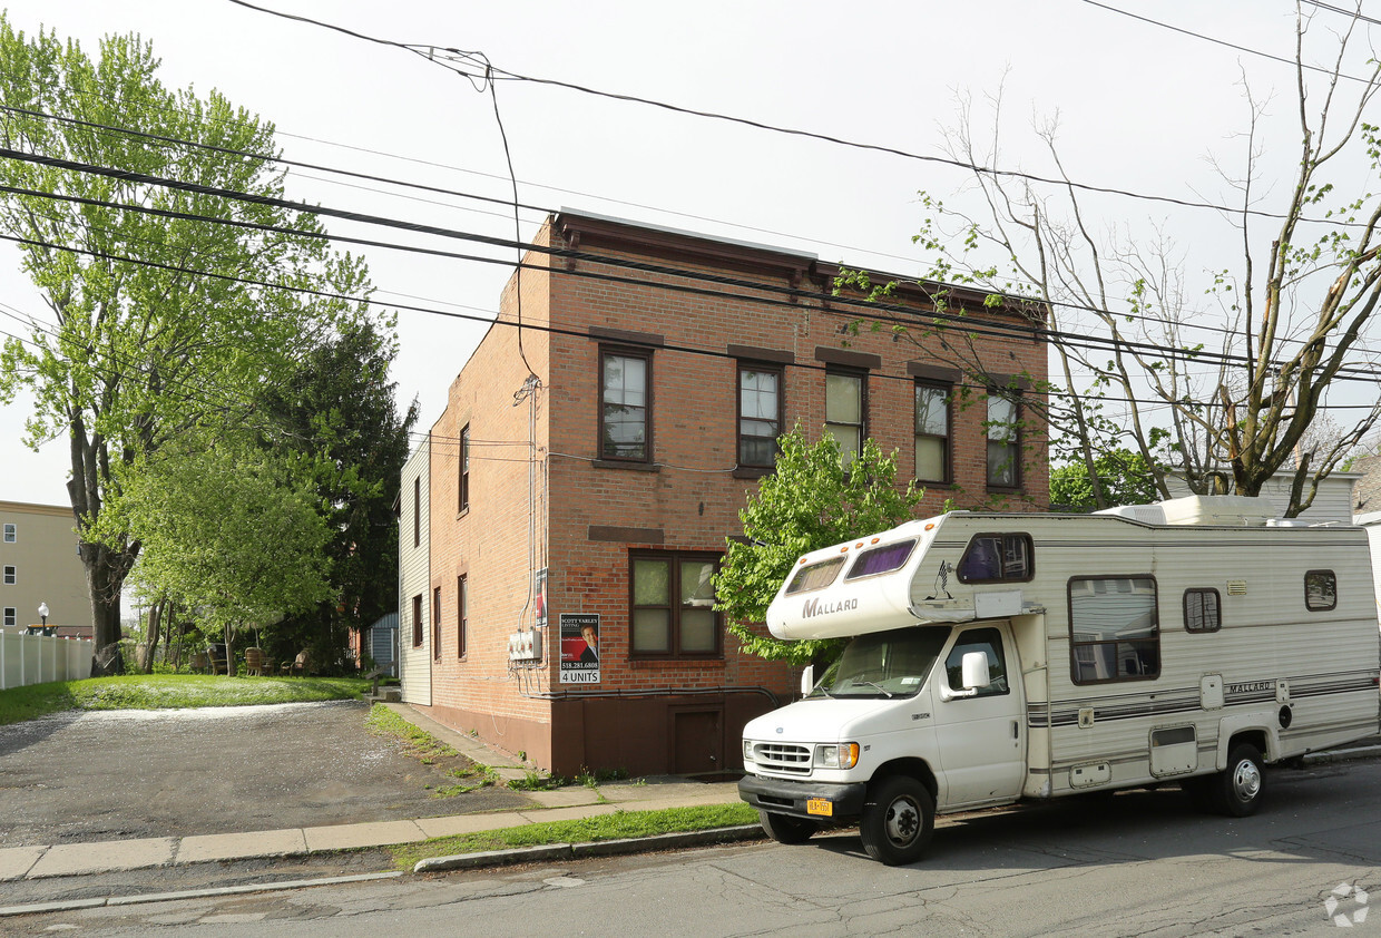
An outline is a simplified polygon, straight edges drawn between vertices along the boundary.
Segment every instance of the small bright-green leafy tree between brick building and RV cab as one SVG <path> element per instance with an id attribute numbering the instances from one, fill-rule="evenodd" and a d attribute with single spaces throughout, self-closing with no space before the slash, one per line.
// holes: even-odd
<path id="1" fill-rule="evenodd" d="M 895 528 L 910 519 L 923 490 L 896 481 L 896 453 L 884 454 L 871 439 L 848 471 L 838 442 L 826 435 L 809 443 L 800 427 L 779 439 L 776 468 L 739 513 L 747 543 L 729 540 L 715 576 L 715 609 L 743 649 L 793 664 L 824 662 L 841 642 L 786 642 L 762 629 L 768 605 L 801 554 L 851 537 Z"/>

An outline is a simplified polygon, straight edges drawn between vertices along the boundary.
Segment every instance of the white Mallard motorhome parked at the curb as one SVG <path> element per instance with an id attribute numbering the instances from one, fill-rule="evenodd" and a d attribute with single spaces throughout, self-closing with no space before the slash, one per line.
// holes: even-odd
<path id="1" fill-rule="evenodd" d="M 768 611 L 847 644 L 749 722 L 740 796 L 884 863 L 935 815 L 1177 782 L 1253 814 L 1265 765 L 1381 731 L 1367 535 L 1258 499 L 953 511 L 801 557 Z M 812 685 L 813 684 L 813 685 Z"/>

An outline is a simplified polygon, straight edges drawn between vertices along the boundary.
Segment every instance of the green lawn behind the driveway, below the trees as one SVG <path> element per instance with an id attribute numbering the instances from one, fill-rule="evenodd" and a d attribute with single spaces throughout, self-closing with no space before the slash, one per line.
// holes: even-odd
<path id="1" fill-rule="evenodd" d="M 369 681 L 358 677 L 211 677 L 124 674 L 54 681 L 0 691 L 0 725 L 62 710 L 242 707 L 253 703 L 351 700 Z"/>

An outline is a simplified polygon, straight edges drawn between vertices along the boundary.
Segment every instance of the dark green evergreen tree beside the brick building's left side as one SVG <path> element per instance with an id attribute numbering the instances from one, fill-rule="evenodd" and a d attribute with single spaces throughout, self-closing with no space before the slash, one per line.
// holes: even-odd
<path id="1" fill-rule="evenodd" d="M 345 647 L 345 626 L 369 626 L 398 608 L 394 500 L 417 405 L 398 416 L 398 385 L 388 380 L 395 352 L 391 333 L 360 323 L 316 345 L 289 381 L 261 396 L 278 434 L 316 446 L 315 486 L 331 532 L 326 554 L 336 601 L 279 623 L 279 656 L 309 648 L 330 664 Z M 278 434 L 262 445 L 276 449 Z"/>

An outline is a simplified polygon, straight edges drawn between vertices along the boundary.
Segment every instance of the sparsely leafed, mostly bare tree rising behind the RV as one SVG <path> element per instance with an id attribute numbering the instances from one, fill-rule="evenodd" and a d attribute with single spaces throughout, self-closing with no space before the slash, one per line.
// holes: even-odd
<path id="1" fill-rule="evenodd" d="M 1353 405 L 1331 432 L 1309 432 L 1330 388 L 1337 392 L 1341 380 L 1375 380 L 1360 340 L 1381 297 L 1381 199 L 1363 188 L 1364 170 L 1374 178 L 1381 163 L 1381 131 L 1367 123 L 1381 68 L 1369 55 L 1364 76 L 1344 70 L 1362 41 L 1360 15 L 1329 33 L 1331 66 L 1306 65 L 1316 54 L 1311 48 L 1306 55 L 1315 26 L 1306 10 L 1312 7 L 1301 4 L 1295 15 L 1300 140 L 1288 195 L 1272 199 L 1262 185 L 1264 156 L 1280 148 L 1268 151 L 1268 102 L 1244 80 L 1244 164 L 1235 175 L 1215 163 L 1230 192 L 1221 214 L 1237 232 L 1240 256 L 1217 265 L 1204 283 L 1186 272 L 1184 251 L 1163 229 L 1139 243 L 1116 231 L 1095 236 L 1090 191 L 1061 162 L 1058 116 L 1036 127 L 1055 167 L 1052 178 L 1039 181 L 982 169 L 1001 166 L 1001 91 L 990 101 L 992 135 L 982 141 L 972 102 L 960 101 L 950 155 L 975 167 L 981 209 L 954 211 L 923 193 L 927 217 L 916 240 L 934 257 L 923 283 L 935 285 L 942 316 L 964 312 L 954 301 L 960 291 L 949 285 L 965 294 L 978 289 L 990 304 L 1030 304 L 1032 322 L 1056 355 L 1051 370 L 1061 383 L 1041 388 L 1041 416 L 1056 453 L 1087 467 L 1099 506 L 1106 497 L 1097 481 L 1098 456 L 1128 448 L 1153 467 L 1163 497 L 1170 496 L 1170 474 L 1197 493 L 1259 495 L 1275 474 L 1290 472 L 1287 515 L 1295 515 L 1381 417 L 1370 388 L 1369 403 Z M 841 286 L 870 289 L 866 275 Z M 1211 297 L 1211 309 L 1193 307 L 1200 296 Z M 975 380 L 994 367 L 953 320 L 898 319 L 895 327 Z M 1023 401 L 1030 406 L 1039 396 Z"/>

